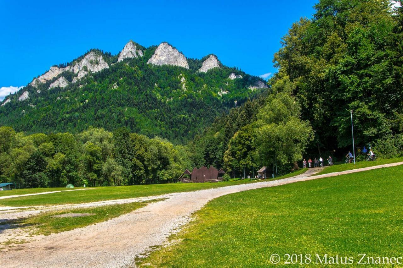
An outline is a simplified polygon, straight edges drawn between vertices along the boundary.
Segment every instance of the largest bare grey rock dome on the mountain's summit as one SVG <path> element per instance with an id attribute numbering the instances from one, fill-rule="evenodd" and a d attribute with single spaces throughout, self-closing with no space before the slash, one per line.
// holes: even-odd
<path id="1" fill-rule="evenodd" d="M 154 65 L 173 65 L 181 66 L 189 69 L 189 64 L 183 54 L 181 54 L 178 49 L 171 47 L 168 43 L 161 43 L 153 56 L 148 60 L 148 64 Z"/>

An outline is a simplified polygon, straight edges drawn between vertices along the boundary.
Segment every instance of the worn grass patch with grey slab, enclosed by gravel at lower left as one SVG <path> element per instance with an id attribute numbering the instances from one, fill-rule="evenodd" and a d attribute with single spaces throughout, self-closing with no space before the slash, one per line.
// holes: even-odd
<path id="1" fill-rule="evenodd" d="M 160 199 L 159 199 L 160 200 Z M 156 202 L 159 200 L 152 200 Z M 118 204 L 99 206 L 92 208 L 77 208 L 57 210 L 52 212 L 45 212 L 37 216 L 33 216 L 26 219 L 9 221 L 3 224 L 12 224 L 14 227 L 33 227 L 33 235 L 50 235 L 52 233 L 59 233 L 69 231 L 76 228 L 85 227 L 94 223 L 100 223 L 108 219 L 118 217 L 120 215 L 129 213 L 137 208 L 141 208 L 150 202 L 133 202 L 130 204 Z M 60 215 L 65 213 L 90 213 L 93 215 L 80 216 L 80 217 L 65 217 L 55 218 L 54 215 Z"/>

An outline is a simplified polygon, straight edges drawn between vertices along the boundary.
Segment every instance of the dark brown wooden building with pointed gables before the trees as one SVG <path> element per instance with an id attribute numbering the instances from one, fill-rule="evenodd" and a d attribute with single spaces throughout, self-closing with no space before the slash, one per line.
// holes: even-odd
<path id="1" fill-rule="evenodd" d="M 182 182 L 218 182 L 222 181 L 222 176 L 225 174 L 224 170 L 217 170 L 213 166 L 207 168 L 205 166 L 193 168 L 192 172 L 189 169 L 185 169 L 179 177 L 179 181 Z"/>

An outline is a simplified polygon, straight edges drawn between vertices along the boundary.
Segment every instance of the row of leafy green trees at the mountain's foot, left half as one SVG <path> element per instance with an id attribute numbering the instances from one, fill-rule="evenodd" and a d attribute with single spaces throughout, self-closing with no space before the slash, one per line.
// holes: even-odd
<path id="1" fill-rule="evenodd" d="M 127 128 L 25 135 L 0 127 L 0 179 L 19 188 L 169 183 L 189 159 L 185 146 Z"/>

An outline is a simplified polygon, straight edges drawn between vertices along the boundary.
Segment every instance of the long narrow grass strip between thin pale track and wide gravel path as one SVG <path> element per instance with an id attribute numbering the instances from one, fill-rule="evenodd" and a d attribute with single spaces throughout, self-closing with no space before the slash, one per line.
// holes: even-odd
<path id="1" fill-rule="evenodd" d="M 307 169 L 300 169 L 293 173 L 278 177 L 282 179 L 299 175 Z M 243 183 L 253 183 L 255 179 L 235 179 L 217 183 L 168 183 L 152 185 L 134 185 L 120 187 L 98 187 L 85 191 L 66 191 L 54 194 L 44 194 L 37 196 L 22 196 L 0 200 L 0 206 L 41 206 L 52 204 L 78 204 L 85 202 L 96 202 L 102 200 L 114 200 L 121 198 L 135 198 L 143 196 L 156 196 L 174 192 L 188 192 L 223 186 L 237 185 Z M 259 180 L 261 181 L 261 180 Z M 12 192 L 12 191 L 9 191 Z"/>

